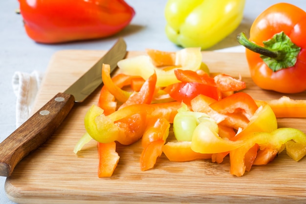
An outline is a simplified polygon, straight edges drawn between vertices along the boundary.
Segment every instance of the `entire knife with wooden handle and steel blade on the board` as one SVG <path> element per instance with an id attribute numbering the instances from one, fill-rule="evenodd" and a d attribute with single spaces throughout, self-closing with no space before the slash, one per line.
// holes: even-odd
<path id="1" fill-rule="evenodd" d="M 102 82 L 102 65 L 112 72 L 126 56 L 127 46 L 120 38 L 109 51 L 63 93 L 56 94 L 18 129 L 0 143 L 0 176 L 12 174 L 18 162 L 43 144 L 61 125 L 76 102 L 84 101 Z"/>

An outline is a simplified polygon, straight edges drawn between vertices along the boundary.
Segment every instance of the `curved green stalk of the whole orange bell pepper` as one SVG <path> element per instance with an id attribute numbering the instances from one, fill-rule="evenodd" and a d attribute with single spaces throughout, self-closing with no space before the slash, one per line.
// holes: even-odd
<path id="1" fill-rule="evenodd" d="M 266 47 L 262 47 L 259 45 L 256 45 L 255 43 L 252 43 L 249 41 L 244 32 L 241 32 L 240 34 L 237 35 L 237 41 L 240 43 L 240 45 L 243 45 L 244 47 L 248 48 L 249 50 L 252 50 L 253 52 L 262 54 L 266 57 L 274 58 L 277 59 L 282 55 L 279 51 L 277 50 L 272 50 Z"/>

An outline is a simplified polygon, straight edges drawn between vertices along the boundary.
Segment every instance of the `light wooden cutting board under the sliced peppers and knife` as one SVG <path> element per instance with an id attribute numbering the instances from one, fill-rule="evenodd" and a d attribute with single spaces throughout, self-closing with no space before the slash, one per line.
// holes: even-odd
<path id="1" fill-rule="evenodd" d="M 63 50 L 51 59 L 38 95 L 35 111 L 90 68 L 105 51 Z M 128 57 L 144 54 L 129 52 Z M 241 74 L 246 92 L 256 99 L 279 98 L 282 94 L 262 91 L 249 77 L 243 53 L 203 52 L 212 72 Z M 73 148 L 85 133 L 84 116 L 98 101 L 95 91 L 76 104 L 65 122 L 40 148 L 16 166 L 5 182 L 7 196 L 20 204 L 106 203 L 306 203 L 306 159 L 296 162 L 285 151 L 267 165 L 253 166 L 238 178 L 229 173 L 229 159 L 171 162 L 164 155 L 155 167 L 142 172 L 140 141 L 118 145 L 120 161 L 110 178 L 97 177 L 96 142 L 89 142 L 77 155 Z M 290 95 L 306 99 L 306 92 Z M 306 132 L 306 118 L 283 118 L 280 127 Z"/>

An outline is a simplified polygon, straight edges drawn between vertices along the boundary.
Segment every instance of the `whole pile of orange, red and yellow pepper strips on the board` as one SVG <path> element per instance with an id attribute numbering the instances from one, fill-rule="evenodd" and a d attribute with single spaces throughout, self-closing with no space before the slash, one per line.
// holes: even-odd
<path id="1" fill-rule="evenodd" d="M 195 50 L 185 48 L 175 53 L 148 49 L 145 57 L 160 69 L 158 74 L 153 70 L 148 78 L 122 72 L 111 78 L 109 66 L 103 65 L 104 86 L 98 105 L 88 110 L 87 133 L 74 150 L 77 153 L 92 138 L 98 141 L 99 177 L 110 177 L 117 166 L 120 157 L 116 142 L 129 145 L 139 139 L 142 171 L 153 168 L 162 153 L 171 161 L 211 159 L 217 163 L 229 155 L 230 173 L 236 176 L 250 171 L 252 165 L 267 164 L 284 148 L 294 160 L 305 156 L 305 134 L 278 128 L 276 120 L 278 115 L 284 116 L 277 108 L 304 101 L 287 97 L 256 101 L 247 93 L 237 92 L 245 88 L 244 82 L 223 73 L 207 73 L 201 61 L 194 70 L 175 63 L 175 58 L 184 58 L 182 53 Z M 118 63 L 120 70 L 133 60 L 139 59 Z M 162 73 L 173 73 L 177 81 L 156 86 Z M 177 141 L 167 142 L 171 125 Z"/>

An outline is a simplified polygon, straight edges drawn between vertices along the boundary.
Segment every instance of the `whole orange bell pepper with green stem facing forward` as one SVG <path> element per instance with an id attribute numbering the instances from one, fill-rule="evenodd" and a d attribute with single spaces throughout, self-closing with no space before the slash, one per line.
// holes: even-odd
<path id="1" fill-rule="evenodd" d="M 265 90 L 297 93 L 306 90 L 306 12 L 289 3 L 277 3 L 254 21 L 246 49 L 251 77 Z"/>

